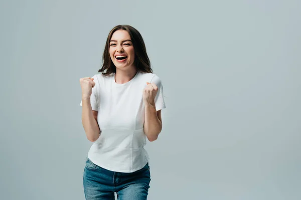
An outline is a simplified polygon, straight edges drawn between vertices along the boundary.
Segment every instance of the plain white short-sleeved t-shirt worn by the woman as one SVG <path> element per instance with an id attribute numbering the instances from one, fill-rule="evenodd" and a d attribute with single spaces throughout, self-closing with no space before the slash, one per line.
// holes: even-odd
<path id="1" fill-rule="evenodd" d="M 155 83 L 159 90 L 155 97 L 157 111 L 165 108 L 163 86 L 154 73 L 138 71 L 124 84 L 115 82 L 115 73 L 93 76 L 91 105 L 98 111 L 97 121 L 101 130 L 92 144 L 88 158 L 111 171 L 133 172 L 148 161 L 144 134 L 144 102 L 142 92 L 146 81 Z M 80 103 L 82 105 L 82 102 Z"/>

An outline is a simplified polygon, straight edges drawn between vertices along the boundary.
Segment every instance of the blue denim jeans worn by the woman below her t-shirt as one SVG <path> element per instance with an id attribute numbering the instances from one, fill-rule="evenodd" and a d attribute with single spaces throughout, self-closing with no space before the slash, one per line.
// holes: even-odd
<path id="1" fill-rule="evenodd" d="M 84 169 L 84 192 L 86 200 L 147 199 L 150 182 L 148 163 L 141 169 L 130 172 L 115 172 L 94 164 L 87 158 Z"/>

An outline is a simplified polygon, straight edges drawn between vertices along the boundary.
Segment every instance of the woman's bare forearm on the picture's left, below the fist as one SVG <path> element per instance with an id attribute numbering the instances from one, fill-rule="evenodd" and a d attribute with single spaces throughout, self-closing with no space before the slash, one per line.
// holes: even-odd
<path id="1" fill-rule="evenodd" d="M 82 123 L 87 138 L 90 141 L 96 141 L 99 137 L 100 129 L 98 122 L 93 116 L 90 98 L 82 99 Z"/>

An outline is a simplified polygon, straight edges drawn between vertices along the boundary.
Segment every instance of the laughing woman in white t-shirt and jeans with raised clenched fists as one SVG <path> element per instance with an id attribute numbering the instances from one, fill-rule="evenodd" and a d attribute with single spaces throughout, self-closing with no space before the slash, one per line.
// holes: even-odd
<path id="1" fill-rule="evenodd" d="M 143 146 L 158 138 L 165 108 L 141 34 L 130 25 L 109 33 L 99 74 L 80 78 L 82 123 L 94 142 L 84 169 L 86 199 L 143 200 L 150 172 Z"/>

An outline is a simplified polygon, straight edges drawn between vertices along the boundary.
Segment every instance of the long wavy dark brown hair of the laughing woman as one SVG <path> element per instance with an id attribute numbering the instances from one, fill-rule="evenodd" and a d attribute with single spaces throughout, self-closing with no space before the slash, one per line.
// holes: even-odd
<path id="1" fill-rule="evenodd" d="M 126 30 L 128 32 L 134 47 L 134 66 L 137 68 L 137 70 L 142 72 L 153 73 L 153 69 L 150 67 L 150 61 L 146 53 L 146 47 L 143 38 L 140 32 L 130 25 L 116 25 L 112 28 L 105 43 L 102 55 L 103 64 L 101 69 L 98 70 L 98 72 L 102 72 L 102 74 L 104 75 L 109 75 L 113 72 L 116 72 L 116 66 L 114 65 L 109 53 L 110 40 L 113 33 L 116 30 Z"/>

